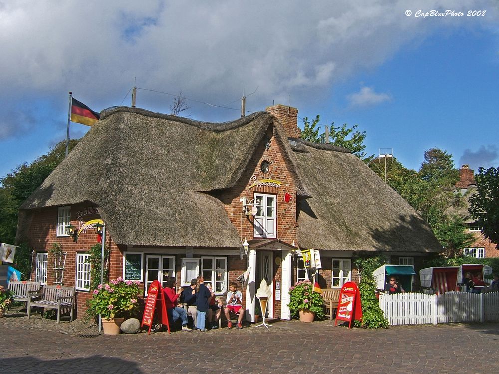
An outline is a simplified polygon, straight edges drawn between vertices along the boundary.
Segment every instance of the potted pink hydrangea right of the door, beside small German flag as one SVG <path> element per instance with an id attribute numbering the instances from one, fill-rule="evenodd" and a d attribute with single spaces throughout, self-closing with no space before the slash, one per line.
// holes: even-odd
<path id="1" fill-rule="evenodd" d="M 299 281 L 289 289 L 291 316 L 300 317 L 303 322 L 312 322 L 314 317 L 324 317 L 324 300 L 322 295 L 313 291 L 312 282 Z"/>

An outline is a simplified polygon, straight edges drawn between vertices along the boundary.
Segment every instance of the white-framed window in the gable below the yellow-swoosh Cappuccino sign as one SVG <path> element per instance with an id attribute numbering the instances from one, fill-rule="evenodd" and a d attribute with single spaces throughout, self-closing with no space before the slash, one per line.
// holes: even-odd
<path id="1" fill-rule="evenodd" d="M 254 232 L 256 238 L 277 237 L 277 199 L 275 195 L 255 193 L 256 215 L 253 218 Z"/>

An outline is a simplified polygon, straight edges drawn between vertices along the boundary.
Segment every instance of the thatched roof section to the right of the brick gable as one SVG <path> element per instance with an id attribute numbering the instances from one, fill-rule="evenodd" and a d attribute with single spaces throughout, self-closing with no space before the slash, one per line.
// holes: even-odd
<path id="1" fill-rule="evenodd" d="M 333 146 L 302 141 L 293 150 L 299 175 L 312 196 L 299 204 L 301 247 L 442 250 L 428 223 L 359 158 Z"/>

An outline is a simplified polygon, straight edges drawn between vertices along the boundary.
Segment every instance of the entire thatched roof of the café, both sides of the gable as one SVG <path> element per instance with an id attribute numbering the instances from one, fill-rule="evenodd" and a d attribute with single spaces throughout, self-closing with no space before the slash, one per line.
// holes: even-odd
<path id="1" fill-rule="evenodd" d="M 239 181 L 271 125 L 297 187 L 302 248 L 441 249 L 426 222 L 357 157 L 289 140 L 267 112 L 213 124 L 129 107 L 102 112 L 21 206 L 18 235 L 34 209 L 91 202 L 117 244 L 239 247 L 214 196 Z"/>

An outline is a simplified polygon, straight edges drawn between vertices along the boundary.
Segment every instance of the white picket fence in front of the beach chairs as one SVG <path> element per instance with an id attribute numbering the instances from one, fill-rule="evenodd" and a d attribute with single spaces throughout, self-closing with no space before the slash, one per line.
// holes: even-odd
<path id="1" fill-rule="evenodd" d="M 390 325 L 499 321 L 499 292 L 380 294 L 379 307 Z"/>

